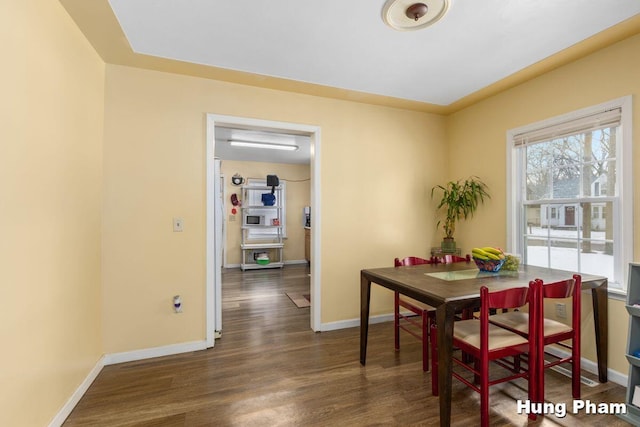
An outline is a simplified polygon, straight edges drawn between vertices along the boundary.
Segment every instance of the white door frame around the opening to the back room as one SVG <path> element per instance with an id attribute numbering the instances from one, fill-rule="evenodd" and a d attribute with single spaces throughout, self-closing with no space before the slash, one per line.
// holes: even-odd
<path id="1" fill-rule="evenodd" d="M 215 264 L 215 234 L 214 224 L 216 210 L 214 209 L 213 191 L 213 160 L 215 156 L 215 128 L 224 127 L 244 127 L 268 129 L 278 132 L 304 132 L 311 138 L 311 315 L 310 326 L 313 331 L 321 330 L 321 292 L 320 292 L 320 239 L 321 239 L 321 216 L 320 216 L 320 127 L 304 125 L 299 123 L 275 122 L 271 120 L 251 119 L 246 117 L 225 116 L 219 114 L 207 114 L 206 130 L 206 286 L 205 286 L 205 309 L 206 309 L 206 341 L 207 347 L 215 344 L 215 269 L 221 266 Z"/>

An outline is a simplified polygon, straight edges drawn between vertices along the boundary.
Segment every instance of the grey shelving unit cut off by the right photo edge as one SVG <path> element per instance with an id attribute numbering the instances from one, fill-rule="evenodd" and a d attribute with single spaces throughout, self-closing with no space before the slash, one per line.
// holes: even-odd
<path id="1" fill-rule="evenodd" d="M 629 313 L 629 335 L 627 337 L 627 361 L 629 362 L 629 379 L 627 384 L 627 413 L 618 417 L 633 424 L 640 425 L 640 404 L 633 404 L 636 386 L 640 387 L 640 357 L 634 353 L 640 351 L 640 264 L 629 264 L 629 286 L 627 289 L 627 312 Z M 640 400 L 640 388 L 636 403 Z"/>

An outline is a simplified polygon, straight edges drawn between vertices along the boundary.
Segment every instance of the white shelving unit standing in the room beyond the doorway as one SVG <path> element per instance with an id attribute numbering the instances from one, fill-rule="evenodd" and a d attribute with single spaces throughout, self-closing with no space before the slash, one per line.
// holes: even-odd
<path id="1" fill-rule="evenodd" d="M 275 204 L 265 206 L 262 194 L 271 193 L 271 187 L 245 185 L 242 187 L 242 271 L 258 268 L 282 268 L 284 265 L 284 239 L 282 233 L 282 187 L 274 189 Z M 260 224 L 248 224 L 247 216 L 261 218 Z M 257 255 L 267 253 L 268 264 L 259 264 Z"/>

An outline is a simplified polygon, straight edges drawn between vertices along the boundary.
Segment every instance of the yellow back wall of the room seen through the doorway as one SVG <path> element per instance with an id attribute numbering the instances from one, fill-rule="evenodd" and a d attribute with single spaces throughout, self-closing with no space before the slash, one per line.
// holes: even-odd
<path id="1" fill-rule="evenodd" d="M 263 162 L 238 162 L 223 160 L 221 172 L 225 175 L 225 216 L 227 226 L 226 265 L 238 265 L 241 262 L 241 226 L 242 211 L 237 209 L 233 215 L 230 197 L 236 193 L 242 199 L 241 187 L 231 184 L 231 177 L 239 173 L 245 179 L 266 179 L 267 174 L 277 175 L 287 187 L 287 238 L 283 249 L 284 261 L 304 261 L 304 224 L 302 208 L 310 204 L 309 164 L 285 164 Z"/>

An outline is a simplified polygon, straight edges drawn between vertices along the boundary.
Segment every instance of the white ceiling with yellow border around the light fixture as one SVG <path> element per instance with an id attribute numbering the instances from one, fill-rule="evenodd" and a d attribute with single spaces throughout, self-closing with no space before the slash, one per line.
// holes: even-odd
<path id="1" fill-rule="evenodd" d="M 640 32 L 638 0 L 450 0 L 417 31 L 386 0 L 59 1 L 110 64 L 440 114 Z"/>

